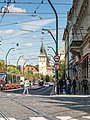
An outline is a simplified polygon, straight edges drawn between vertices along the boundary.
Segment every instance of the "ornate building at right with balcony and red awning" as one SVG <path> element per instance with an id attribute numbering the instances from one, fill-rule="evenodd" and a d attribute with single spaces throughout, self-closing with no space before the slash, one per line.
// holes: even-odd
<path id="1" fill-rule="evenodd" d="M 90 0 L 73 0 L 63 39 L 67 76 L 90 80 Z"/>

